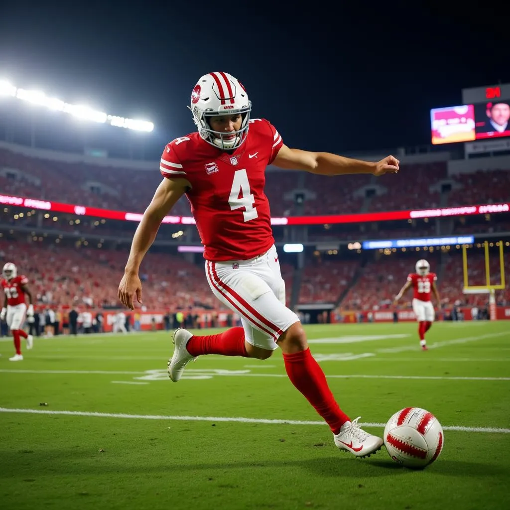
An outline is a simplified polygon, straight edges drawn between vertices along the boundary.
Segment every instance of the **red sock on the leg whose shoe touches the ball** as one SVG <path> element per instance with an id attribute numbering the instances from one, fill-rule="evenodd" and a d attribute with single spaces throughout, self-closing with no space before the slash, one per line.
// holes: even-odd
<path id="1" fill-rule="evenodd" d="M 338 434 L 340 427 L 350 419 L 338 406 L 327 386 L 326 376 L 310 353 L 310 349 L 294 354 L 284 353 L 284 362 L 292 384 L 315 407 L 331 431 Z"/>

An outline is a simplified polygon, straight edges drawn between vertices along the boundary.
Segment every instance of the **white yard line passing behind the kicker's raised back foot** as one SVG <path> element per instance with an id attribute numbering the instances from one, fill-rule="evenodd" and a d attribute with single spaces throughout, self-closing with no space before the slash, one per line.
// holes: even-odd
<path id="1" fill-rule="evenodd" d="M 166 369 L 146 370 L 144 372 L 115 372 L 108 370 L 15 370 L 0 369 L 0 372 L 21 374 L 105 374 L 105 375 L 164 375 L 168 377 Z M 216 370 L 216 369 L 192 369 L 186 370 L 196 376 L 227 376 L 227 377 L 287 377 L 286 374 L 253 374 L 248 370 Z M 443 376 L 443 375 L 373 375 L 373 374 L 341 374 L 326 375 L 328 379 L 430 379 L 430 380 L 470 380 L 470 381 L 507 381 L 510 377 L 469 377 L 469 376 Z"/>

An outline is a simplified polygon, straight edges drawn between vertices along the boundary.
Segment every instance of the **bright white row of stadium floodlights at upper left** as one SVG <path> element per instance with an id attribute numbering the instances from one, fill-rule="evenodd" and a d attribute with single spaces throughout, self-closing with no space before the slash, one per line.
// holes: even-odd
<path id="1" fill-rule="evenodd" d="M 12 96 L 31 103 L 33 105 L 43 106 L 53 111 L 68 113 L 75 118 L 107 123 L 114 127 L 123 127 L 132 131 L 144 131 L 150 133 L 154 130 L 154 124 L 147 120 L 130 119 L 119 115 L 109 115 L 105 112 L 94 110 L 83 105 L 71 105 L 65 103 L 57 97 L 48 97 L 40 90 L 27 90 L 16 88 L 6 80 L 0 80 L 0 96 Z"/>

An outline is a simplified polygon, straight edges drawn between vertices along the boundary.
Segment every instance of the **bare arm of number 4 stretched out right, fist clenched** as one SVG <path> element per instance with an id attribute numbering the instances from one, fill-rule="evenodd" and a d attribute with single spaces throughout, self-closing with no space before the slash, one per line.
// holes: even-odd
<path id="1" fill-rule="evenodd" d="M 387 156 L 380 161 L 371 162 L 345 158 L 330 154 L 330 152 L 290 149 L 287 145 L 282 145 L 273 161 L 273 165 L 278 168 L 305 170 L 328 176 L 352 173 L 371 173 L 379 176 L 385 173 L 397 173 L 399 163 L 394 156 Z"/>

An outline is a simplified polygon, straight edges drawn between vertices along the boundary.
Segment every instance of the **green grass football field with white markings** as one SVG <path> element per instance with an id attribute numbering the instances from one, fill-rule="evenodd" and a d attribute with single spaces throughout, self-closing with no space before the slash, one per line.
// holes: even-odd
<path id="1" fill-rule="evenodd" d="M 438 417 L 445 446 L 424 471 L 384 447 L 367 459 L 340 452 L 279 351 L 201 356 L 174 384 L 168 334 L 36 339 L 20 363 L 2 339 L 0 506 L 510 507 L 510 322 L 437 323 L 427 352 L 416 329 L 307 327 L 342 409 L 367 430 L 382 435 L 406 406 Z"/>

